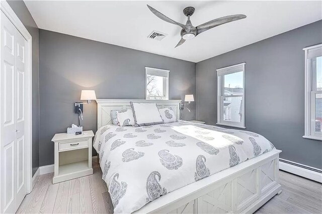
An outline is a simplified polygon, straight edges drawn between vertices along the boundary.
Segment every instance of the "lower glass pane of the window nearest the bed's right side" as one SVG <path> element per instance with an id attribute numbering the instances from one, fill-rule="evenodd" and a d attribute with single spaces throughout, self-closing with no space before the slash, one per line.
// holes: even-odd
<path id="1" fill-rule="evenodd" d="M 223 120 L 241 122 L 243 97 L 227 97 L 223 101 Z"/>

